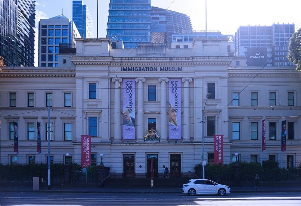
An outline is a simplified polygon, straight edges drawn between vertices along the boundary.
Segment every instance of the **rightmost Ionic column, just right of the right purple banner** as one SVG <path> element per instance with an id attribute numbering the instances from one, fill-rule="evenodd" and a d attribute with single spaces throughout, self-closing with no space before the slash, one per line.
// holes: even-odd
<path id="1" fill-rule="evenodd" d="M 184 82 L 183 91 L 183 142 L 191 142 L 190 140 L 190 98 L 189 98 L 189 82 L 192 82 L 192 78 L 183 77 L 182 82 Z"/>

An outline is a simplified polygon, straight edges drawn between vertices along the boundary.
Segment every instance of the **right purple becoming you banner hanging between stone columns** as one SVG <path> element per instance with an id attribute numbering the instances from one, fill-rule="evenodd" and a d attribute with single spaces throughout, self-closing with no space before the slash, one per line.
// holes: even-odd
<path id="1" fill-rule="evenodd" d="M 181 99 L 181 79 L 169 79 L 169 139 L 182 139 Z"/>

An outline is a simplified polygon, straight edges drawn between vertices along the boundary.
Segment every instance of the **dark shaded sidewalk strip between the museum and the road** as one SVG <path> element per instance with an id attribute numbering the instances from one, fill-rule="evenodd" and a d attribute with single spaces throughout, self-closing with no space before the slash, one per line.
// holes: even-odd
<path id="1" fill-rule="evenodd" d="M 182 193 L 182 188 L 95 188 L 95 187 L 44 187 L 41 190 L 33 190 L 32 187 L 1 187 L 1 192 L 64 192 L 64 193 Z M 285 187 L 231 187 L 231 193 L 236 192 L 301 192 L 300 186 Z M 301 194 L 301 193 L 300 193 Z"/>

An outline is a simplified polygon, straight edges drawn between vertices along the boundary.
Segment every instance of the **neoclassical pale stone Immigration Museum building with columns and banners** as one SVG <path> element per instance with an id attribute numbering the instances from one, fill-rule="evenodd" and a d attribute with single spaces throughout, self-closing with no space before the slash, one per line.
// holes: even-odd
<path id="1" fill-rule="evenodd" d="M 188 176 L 203 148 L 209 164 L 229 164 L 236 152 L 240 161 L 301 163 L 301 73 L 294 67 L 237 67 L 245 58 L 228 53 L 228 38 L 196 38 L 189 49 L 113 49 L 110 39 L 81 38 L 76 50 L 75 67 L 3 68 L 2 164 L 47 161 L 48 103 L 51 161 L 81 164 L 81 136 L 90 135 L 91 164 L 103 154 L 116 177 L 149 177 L 151 159 L 155 177 L 163 165 L 172 177 Z"/>

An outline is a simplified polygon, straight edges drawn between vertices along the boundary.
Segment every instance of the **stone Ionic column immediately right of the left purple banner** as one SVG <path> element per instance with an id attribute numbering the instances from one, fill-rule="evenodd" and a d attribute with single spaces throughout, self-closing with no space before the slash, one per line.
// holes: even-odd
<path id="1" fill-rule="evenodd" d="M 144 125 L 144 100 L 143 100 L 143 83 L 145 82 L 145 78 L 136 78 L 135 79 L 136 82 L 138 82 L 138 86 L 137 86 L 137 120 L 136 122 L 136 129 L 137 129 L 137 142 L 144 142 L 143 139 L 143 125 Z"/>

